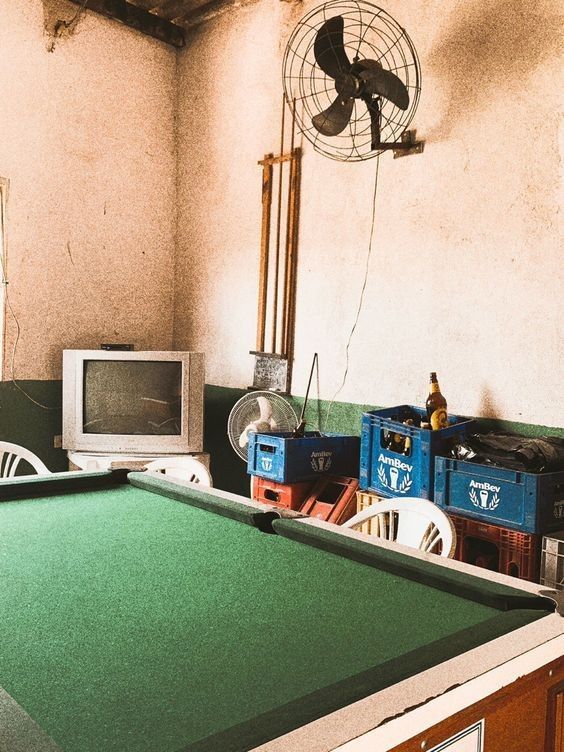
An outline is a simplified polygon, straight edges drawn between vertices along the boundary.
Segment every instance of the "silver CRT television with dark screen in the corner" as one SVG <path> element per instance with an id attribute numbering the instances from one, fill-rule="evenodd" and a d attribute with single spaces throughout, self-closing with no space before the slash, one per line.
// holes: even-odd
<path id="1" fill-rule="evenodd" d="M 63 447 L 71 451 L 203 451 L 204 355 L 63 351 Z"/>

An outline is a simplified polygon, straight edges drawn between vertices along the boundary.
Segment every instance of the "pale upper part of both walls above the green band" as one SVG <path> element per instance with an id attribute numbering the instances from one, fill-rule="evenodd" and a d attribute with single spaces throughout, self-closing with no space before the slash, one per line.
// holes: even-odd
<path id="1" fill-rule="evenodd" d="M 91 12 L 48 52 L 41 0 L 0 0 L 17 378 L 58 378 L 64 347 L 112 340 L 202 349 L 208 383 L 251 383 L 257 162 L 278 150 L 282 55 L 314 4 L 260 0 L 210 22 L 177 77 L 175 50 Z M 78 8 L 59 7 L 66 19 Z M 419 52 L 413 127 L 425 151 L 380 159 L 338 399 L 420 403 L 433 369 L 453 412 L 563 425 L 558 4 L 385 8 Z M 293 391 L 305 392 L 318 352 L 331 399 L 377 162 L 339 164 L 301 145 Z M 6 377 L 15 337 L 8 314 Z"/>

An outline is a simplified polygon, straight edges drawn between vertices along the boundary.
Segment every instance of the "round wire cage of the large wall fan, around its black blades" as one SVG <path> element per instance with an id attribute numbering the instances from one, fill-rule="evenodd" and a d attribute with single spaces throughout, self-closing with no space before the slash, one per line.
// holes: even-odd
<path id="1" fill-rule="evenodd" d="M 335 16 L 344 21 L 343 42 L 349 59 L 376 60 L 394 73 L 409 93 L 406 110 L 381 98 L 380 142 L 376 148 L 370 113 L 362 99 L 354 100 L 350 121 L 336 136 L 322 135 L 312 123 L 312 118 L 326 110 L 336 96 L 335 81 L 319 68 L 314 56 L 318 30 Z M 419 59 L 407 32 L 386 11 L 365 0 L 330 0 L 304 16 L 286 45 L 282 76 L 284 96 L 302 133 L 317 152 L 342 162 L 370 159 L 399 142 L 421 93 Z"/>

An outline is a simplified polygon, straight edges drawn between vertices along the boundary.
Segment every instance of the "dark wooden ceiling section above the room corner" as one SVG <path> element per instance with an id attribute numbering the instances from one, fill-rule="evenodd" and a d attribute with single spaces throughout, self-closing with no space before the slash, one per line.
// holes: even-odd
<path id="1" fill-rule="evenodd" d="M 216 16 L 256 0 L 71 0 L 83 9 L 121 21 L 174 47 L 187 32 Z"/>

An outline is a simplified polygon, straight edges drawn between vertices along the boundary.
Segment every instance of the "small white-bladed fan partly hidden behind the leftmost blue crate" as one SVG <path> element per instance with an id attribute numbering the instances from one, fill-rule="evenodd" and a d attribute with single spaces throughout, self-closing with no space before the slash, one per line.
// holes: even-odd
<path id="1" fill-rule="evenodd" d="M 247 459 L 249 433 L 256 431 L 294 431 L 298 416 L 292 405 L 274 392 L 249 392 L 229 413 L 227 435 L 241 459 Z"/>

